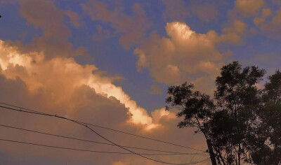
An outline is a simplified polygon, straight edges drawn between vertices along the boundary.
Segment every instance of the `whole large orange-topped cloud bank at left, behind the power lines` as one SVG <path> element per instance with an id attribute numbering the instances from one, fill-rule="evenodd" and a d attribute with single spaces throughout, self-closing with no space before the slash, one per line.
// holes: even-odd
<path id="1" fill-rule="evenodd" d="M 136 101 L 124 93 L 121 87 L 113 85 L 114 78 L 100 74 L 96 66 L 77 64 L 72 57 L 55 57 L 44 59 L 42 52 L 30 52 L 21 54 L 16 46 L 6 45 L 0 42 L 0 99 L 1 101 L 14 103 L 18 106 L 33 108 L 44 113 L 66 116 L 75 120 L 82 120 L 93 124 L 100 124 L 113 129 L 130 131 L 141 136 L 150 136 L 163 141 L 177 141 L 186 143 L 190 147 L 204 150 L 202 136 L 194 136 L 192 129 L 176 129 L 180 119 L 174 111 L 166 112 L 164 108 L 155 110 L 148 115 L 146 110 L 139 107 Z M 47 131 L 52 134 L 63 134 L 86 138 L 94 141 L 102 139 L 93 136 L 91 131 L 83 129 L 76 124 L 51 117 L 35 117 L 22 113 L 11 113 L 8 110 L 1 111 L 1 124 L 15 127 Z M 12 131 L 0 128 L 1 138 L 31 143 L 43 143 L 46 145 L 67 146 L 71 148 L 83 148 L 86 150 L 106 150 L 111 152 L 124 152 L 118 148 L 89 143 L 74 143 L 65 139 L 40 136 L 27 132 Z M 177 150 L 187 152 L 184 148 L 175 149 L 172 145 L 159 145 L 153 141 L 141 141 L 124 134 L 112 133 L 102 129 L 100 134 L 110 138 L 118 144 L 136 147 L 157 148 L 159 150 Z M 5 133 L 5 134 L 3 134 Z M 178 138 L 181 137 L 181 138 Z M 136 143 L 138 141 L 138 143 Z M 133 155 L 98 155 L 86 152 L 71 152 L 33 148 L 29 145 L 14 145 L 1 143 L 1 150 L 5 151 L 5 162 L 13 157 L 25 157 L 13 159 L 13 163 L 28 162 L 30 164 L 46 161 L 53 164 L 67 162 L 67 164 L 152 164 Z M 25 152 L 29 150 L 30 152 Z M 136 151 L 144 152 L 144 151 Z M 192 152 L 188 150 L 188 152 Z M 158 156 L 167 162 L 186 162 L 191 156 Z M 194 159 L 201 160 L 204 156 Z M 41 161 L 40 161 L 41 160 Z M 59 163 L 60 162 L 60 163 Z"/>

